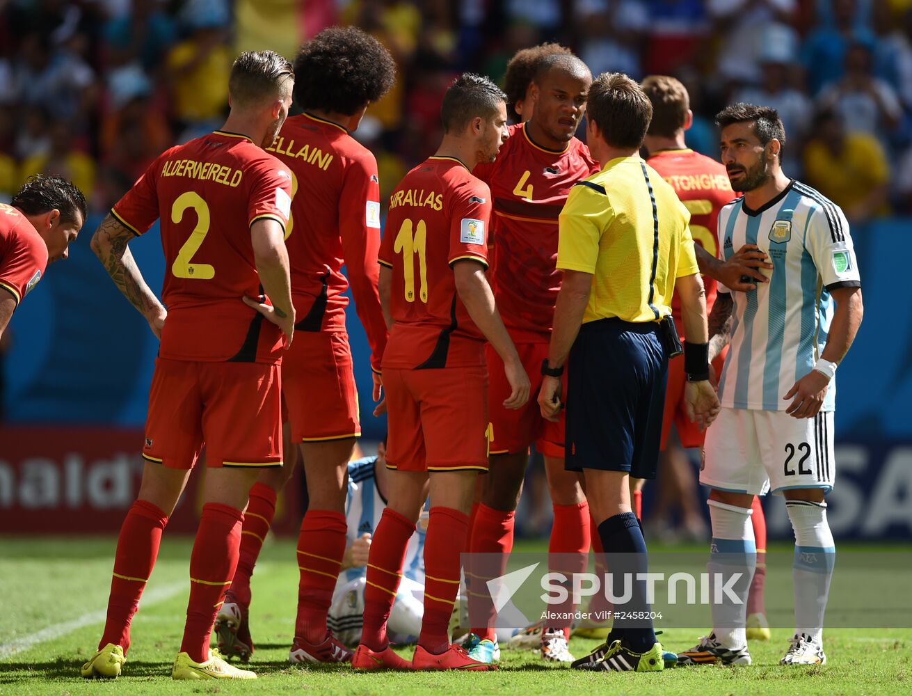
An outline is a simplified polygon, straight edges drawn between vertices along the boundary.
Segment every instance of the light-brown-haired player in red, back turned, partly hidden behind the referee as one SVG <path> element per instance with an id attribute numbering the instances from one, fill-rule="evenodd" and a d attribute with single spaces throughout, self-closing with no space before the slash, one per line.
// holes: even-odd
<path id="1" fill-rule="evenodd" d="M 717 248 L 716 222 L 722 206 L 731 202 L 735 196 L 731 190 L 728 172 L 721 162 L 687 147 L 684 132 L 689 129 L 693 114 L 690 111 L 687 88 L 679 80 L 663 75 L 650 75 L 643 80 L 642 87 L 652 102 L 652 121 L 649 123 L 644 143 L 649 152 L 649 166 L 671 184 L 681 202 L 689 210 L 690 234 L 694 242 L 706 255 L 718 258 L 721 250 Z M 747 251 L 749 250 L 742 248 L 741 254 Z M 762 277 L 763 280 L 766 279 L 765 276 Z M 705 275 L 703 286 L 706 289 L 706 311 L 709 314 L 716 299 L 716 281 Z M 675 324 L 683 327 L 680 298 L 677 295 L 672 298 L 671 312 Z M 683 341 L 683 337 L 681 340 Z M 718 375 L 725 351 L 720 351 L 714 358 L 712 365 Z M 699 515 L 702 521 L 702 515 L 696 510 L 697 496 L 693 473 L 689 471 L 689 462 L 681 448 L 702 447 L 706 431 L 700 431 L 700 428 L 687 417 L 684 403 L 685 382 L 684 360 L 669 360 L 665 415 L 662 420 L 662 460 L 667 469 L 666 475 L 673 477 L 678 484 L 678 497 L 685 514 Z M 680 446 L 668 441 L 672 425 L 678 431 Z M 635 482 L 635 503 L 639 517 L 640 494 L 645 481 L 636 479 Z M 765 554 L 766 520 L 760 498 L 757 496 L 754 496 L 752 510 L 751 522 L 757 553 Z M 770 628 L 763 608 L 763 586 L 766 577 L 766 564 L 763 558 L 764 556 L 758 556 L 757 568 L 751 582 L 747 631 L 748 638 L 768 640 Z"/>

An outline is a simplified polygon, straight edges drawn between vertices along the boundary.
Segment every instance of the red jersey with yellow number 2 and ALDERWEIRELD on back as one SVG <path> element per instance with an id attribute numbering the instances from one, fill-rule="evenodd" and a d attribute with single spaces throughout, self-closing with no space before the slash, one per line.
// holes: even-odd
<path id="1" fill-rule="evenodd" d="M 216 130 L 161 154 L 111 209 L 136 234 L 161 216 L 161 358 L 281 357 L 279 328 L 241 298 L 263 294 L 250 225 L 272 218 L 285 227 L 290 196 L 285 165 L 246 136 Z"/>

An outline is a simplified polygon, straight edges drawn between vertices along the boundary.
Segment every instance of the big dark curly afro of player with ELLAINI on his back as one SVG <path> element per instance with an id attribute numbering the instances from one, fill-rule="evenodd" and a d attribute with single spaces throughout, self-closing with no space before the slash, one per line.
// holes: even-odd
<path id="1" fill-rule="evenodd" d="M 355 26 L 330 26 L 295 57 L 295 104 L 353 114 L 392 88 L 396 63 L 373 36 Z"/>

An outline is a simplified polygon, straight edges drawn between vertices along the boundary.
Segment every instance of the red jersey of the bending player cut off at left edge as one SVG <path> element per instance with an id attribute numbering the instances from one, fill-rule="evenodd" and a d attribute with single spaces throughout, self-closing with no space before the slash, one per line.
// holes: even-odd
<path id="1" fill-rule="evenodd" d="M 47 268 L 47 244 L 25 214 L 0 203 L 0 287 L 22 302 Z"/>

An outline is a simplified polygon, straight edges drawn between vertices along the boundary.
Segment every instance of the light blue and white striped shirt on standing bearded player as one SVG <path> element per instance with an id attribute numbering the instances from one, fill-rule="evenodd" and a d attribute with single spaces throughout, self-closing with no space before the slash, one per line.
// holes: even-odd
<path id="1" fill-rule="evenodd" d="M 740 198 L 719 214 L 723 258 L 757 244 L 773 265 L 769 283 L 731 293 L 734 325 L 719 384 L 722 406 L 785 410 L 782 397 L 813 368 L 833 319 L 830 291 L 861 286 L 849 225 L 838 205 L 793 181 L 760 210 Z M 724 286 L 719 291 L 731 292 Z M 823 410 L 835 409 L 830 383 Z"/>

